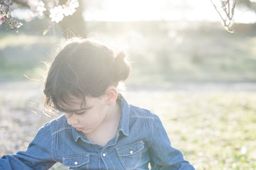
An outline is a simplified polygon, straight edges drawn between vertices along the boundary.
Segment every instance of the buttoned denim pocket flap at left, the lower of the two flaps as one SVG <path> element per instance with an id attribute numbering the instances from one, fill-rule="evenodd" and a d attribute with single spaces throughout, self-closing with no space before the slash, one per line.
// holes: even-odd
<path id="1" fill-rule="evenodd" d="M 62 158 L 62 164 L 69 167 L 79 167 L 89 162 L 89 154 Z"/>

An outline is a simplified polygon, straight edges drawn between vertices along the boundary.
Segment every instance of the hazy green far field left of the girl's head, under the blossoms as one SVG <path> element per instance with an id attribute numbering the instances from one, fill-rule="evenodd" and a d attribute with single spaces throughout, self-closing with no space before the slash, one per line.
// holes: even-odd
<path id="1" fill-rule="evenodd" d="M 43 62 L 49 62 L 60 37 L 48 35 L 1 35 L 0 43 L 0 81 L 9 79 L 24 80 L 40 77 Z M 26 40 L 26 41 L 24 41 Z"/>

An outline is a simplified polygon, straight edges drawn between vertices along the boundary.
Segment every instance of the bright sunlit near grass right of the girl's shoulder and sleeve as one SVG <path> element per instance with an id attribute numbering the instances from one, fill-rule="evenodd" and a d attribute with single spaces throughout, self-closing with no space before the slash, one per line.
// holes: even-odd
<path id="1" fill-rule="evenodd" d="M 129 96 L 160 115 L 172 145 L 196 169 L 256 169 L 256 93 L 144 91 Z"/>

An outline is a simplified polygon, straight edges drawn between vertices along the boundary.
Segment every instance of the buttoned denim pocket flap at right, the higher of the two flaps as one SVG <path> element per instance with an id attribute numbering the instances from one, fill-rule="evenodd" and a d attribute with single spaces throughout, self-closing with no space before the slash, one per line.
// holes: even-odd
<path id="1" fill-rule="evenodd" d="M 118 147 L 118 148 L 116 148 L 116 152 L 117 152 L 118 156 L 122 157 L 122 156 L 136 154 L 137 152 L 140 152 L 143 148 L 144 148 L 144 142 L 140 141 L 140 142 L 136 142 L 131 145 Z"/>

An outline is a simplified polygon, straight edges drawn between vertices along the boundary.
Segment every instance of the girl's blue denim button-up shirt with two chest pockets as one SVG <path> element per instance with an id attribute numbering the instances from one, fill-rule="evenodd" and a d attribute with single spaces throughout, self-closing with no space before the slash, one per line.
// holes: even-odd
<path id="1" fill-rule="evenodd" d="M 26 152 L 4 155 L 0 169 L 49 169 L 61 162 L 69 169 L 194 169 L 171 146 L 157 115 L 130 106 L 122 97 L 116 137 L 102 147 L 67 124 L 65 115 L 46 123 Z"/>

